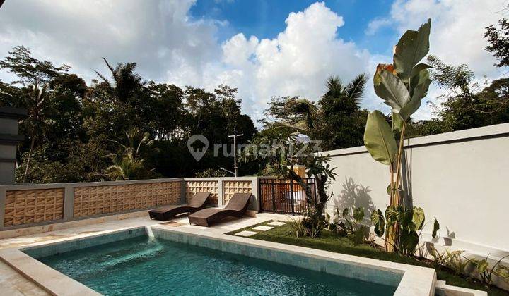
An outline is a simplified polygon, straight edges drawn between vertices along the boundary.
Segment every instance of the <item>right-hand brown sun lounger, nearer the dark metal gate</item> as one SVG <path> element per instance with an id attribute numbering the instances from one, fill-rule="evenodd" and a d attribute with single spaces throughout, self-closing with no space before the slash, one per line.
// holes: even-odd
<path id="1" fill-rule="evenodd" d="M 220 221 L 226 217 L 242 217 L 247 211 L 251 199 L 251 193 L 235 193 L 224 209 L 202 209 L 187 216 L 189 223 L 199 226 L 210 226 L 211 223 Z"/>

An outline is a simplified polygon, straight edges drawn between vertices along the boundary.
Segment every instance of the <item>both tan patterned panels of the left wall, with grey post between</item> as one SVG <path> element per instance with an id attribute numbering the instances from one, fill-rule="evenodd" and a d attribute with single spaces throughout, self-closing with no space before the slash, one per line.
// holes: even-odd
<path id="1" fill-rule="evenodd" d="M 183 178 L 0 186 L 0 230 L 184 202 Z"/>

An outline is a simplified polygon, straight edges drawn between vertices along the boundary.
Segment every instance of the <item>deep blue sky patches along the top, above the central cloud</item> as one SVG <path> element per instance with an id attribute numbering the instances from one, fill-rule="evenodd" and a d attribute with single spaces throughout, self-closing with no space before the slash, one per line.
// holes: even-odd
<path id="1" fill-rule="evenodd" d="M 274 0 L 198 0 L 190 9 L 192 18 L 226 20 L 228 25 L 217 32 L 220 42 L 235 34 L 243 33 L 259 39 L 272 39 L 283 32 L 288 14 L 303 11 L 316 1 L 274 1 Z M 371 20 L 384 18 L 390 13 L 389 0 L 335 0 L 324 1 L 325 5 L 344 18 L 345 25 L 337 36 L 346 41 L 356 42 L 373 54 L 391 54 L 387 40 L 397 39 L 394 27 L 383 27 L 377 34 L 366 36 L 365 30 Z M 424 19 L 426 20 L 426 19 Z"/>

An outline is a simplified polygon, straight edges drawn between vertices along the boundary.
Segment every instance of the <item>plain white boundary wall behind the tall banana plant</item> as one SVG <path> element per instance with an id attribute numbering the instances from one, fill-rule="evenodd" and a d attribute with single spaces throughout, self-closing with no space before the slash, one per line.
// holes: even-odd
<path id="1" fill-rule="evenodd" d="M 440 245 L 491 257 L 509 254 L 509 123 L 405 141 L 414 206 L 426 221 L 440 222 Z M 389 167 L 371 158 L 365 147 L 323 152 L 337 167 L 327 211 L 345 206 L 372 209 L 389 202 Z M 430 240 L 432 223 L 423 231 Z"/>

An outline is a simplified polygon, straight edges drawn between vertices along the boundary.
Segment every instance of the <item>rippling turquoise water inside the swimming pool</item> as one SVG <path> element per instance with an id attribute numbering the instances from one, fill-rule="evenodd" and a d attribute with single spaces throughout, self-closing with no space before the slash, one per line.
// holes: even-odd
<path id="1" fill-rule="evenodd" d="M 104 295 L 393 295 L 396 290 L 147 236 L 37 260 Z"/>

